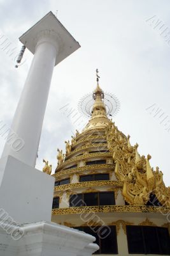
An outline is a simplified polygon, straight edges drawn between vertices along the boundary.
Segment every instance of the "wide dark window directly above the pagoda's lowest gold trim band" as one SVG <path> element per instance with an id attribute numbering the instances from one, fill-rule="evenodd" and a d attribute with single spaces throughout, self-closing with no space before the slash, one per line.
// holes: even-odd
<path id="1" fill-rule="evenodd" d="M 115 205 L 114 192 L 98 192 L 71 195 L 69 199 L 70 207 L 95 206 L 95 205 Z"/>

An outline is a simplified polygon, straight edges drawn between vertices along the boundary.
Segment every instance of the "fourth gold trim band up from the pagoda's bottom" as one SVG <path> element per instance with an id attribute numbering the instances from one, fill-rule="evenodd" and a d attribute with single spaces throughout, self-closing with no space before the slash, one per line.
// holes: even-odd
<path id="1" fill-rule="evenodd" d="M 72 162 L 76 162 L 78 160 L 89 159 L 89 158 L 93 158 L 93 157 L 111 157 L 111 156 L 112 156 L 112 154 L 110 152 L 99 152 L 99 153 L 84 154 L 82 156 L 75 156 L 71 159 L 64 161 L 62 164 L 60 164 L 57 167 L 57 170 L 60 170 L 63 166 L 65 166 L 69 163 L 72 163 Z"/>

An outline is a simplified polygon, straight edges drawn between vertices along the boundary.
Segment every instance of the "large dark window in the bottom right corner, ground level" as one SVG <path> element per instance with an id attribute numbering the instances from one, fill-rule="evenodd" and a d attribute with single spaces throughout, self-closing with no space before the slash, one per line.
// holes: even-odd
<path id="1" fill-rule="evenodd" d="M 170 255 L 170 237 L 167 228 L 127 226 L 129 253 Z"/>

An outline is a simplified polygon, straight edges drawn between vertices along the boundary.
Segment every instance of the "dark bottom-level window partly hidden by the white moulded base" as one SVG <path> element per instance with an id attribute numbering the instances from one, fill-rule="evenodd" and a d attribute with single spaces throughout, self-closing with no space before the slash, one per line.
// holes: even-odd
<path id="1" fill-rule="evenodd" d="M 118 254 L 117 229 L 115 226 L 74 227 L 96 237 L 99 250 L 94 254 Z"/>

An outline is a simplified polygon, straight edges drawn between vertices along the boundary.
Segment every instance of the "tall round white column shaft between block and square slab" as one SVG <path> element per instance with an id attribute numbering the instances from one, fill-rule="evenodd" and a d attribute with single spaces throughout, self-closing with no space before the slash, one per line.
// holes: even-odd
<path id="1" fill-rule="evenodd" d="M 57 33 L 50 30 L 36 36 L 36 51 L 11 125 L 11 134 L 15 132 L 18 140 L 6 143 L 2 157 L 13 156 L 32 167 L 36 164 L 59 41 Z"/>

